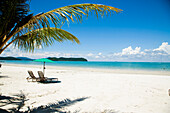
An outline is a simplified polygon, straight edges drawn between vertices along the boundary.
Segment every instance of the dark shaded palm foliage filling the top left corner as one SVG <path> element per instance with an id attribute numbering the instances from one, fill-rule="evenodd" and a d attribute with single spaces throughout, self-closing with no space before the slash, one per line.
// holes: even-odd
<path id="1" fill-rule="evenodd" d="M 22 18 L 27 16 L 28 1 L 0 0 L 0 37 L 8 34 Z"/>

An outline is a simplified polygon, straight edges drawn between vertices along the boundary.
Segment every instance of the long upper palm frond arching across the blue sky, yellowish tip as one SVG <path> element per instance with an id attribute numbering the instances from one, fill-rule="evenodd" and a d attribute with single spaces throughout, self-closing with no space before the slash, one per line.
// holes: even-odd
<path id="1" fill-rule="evenodd" d="M 72 22 L 82 22 L 83 15 L 88 17 L 89 12 L 94 12 L 98 17 L 99 15 L 104 16 L 121 11 L 121 9 L 101 4 L 70 5 L 57 8 L 46 13 L 37 14 L 33 16 L 28 23 L 20 27 L 18 31 L 23 29 L 26 31 L 30 29 L 35 30 L 41 27 L 49 28 L 51 26 L 49 21 L 51 21 L 56 28 L 60 28 L 66 21 L 68 23 L 70 20 Z"/>

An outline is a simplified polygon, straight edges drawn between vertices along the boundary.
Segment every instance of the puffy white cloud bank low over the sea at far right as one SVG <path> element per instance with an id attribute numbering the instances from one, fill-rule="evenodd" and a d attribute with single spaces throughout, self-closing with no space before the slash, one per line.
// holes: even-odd
<path id="1" fill-rule="evenodd" d="M 122 52 L 114 53 L 110 56 L 112 60 L 121 61 L 170 61 L 170 45 L 168 42 L 163 42 L 156 49 L 141 50 L 141 47 L 133 49 L 131 46 L 122 49 Z"/>

